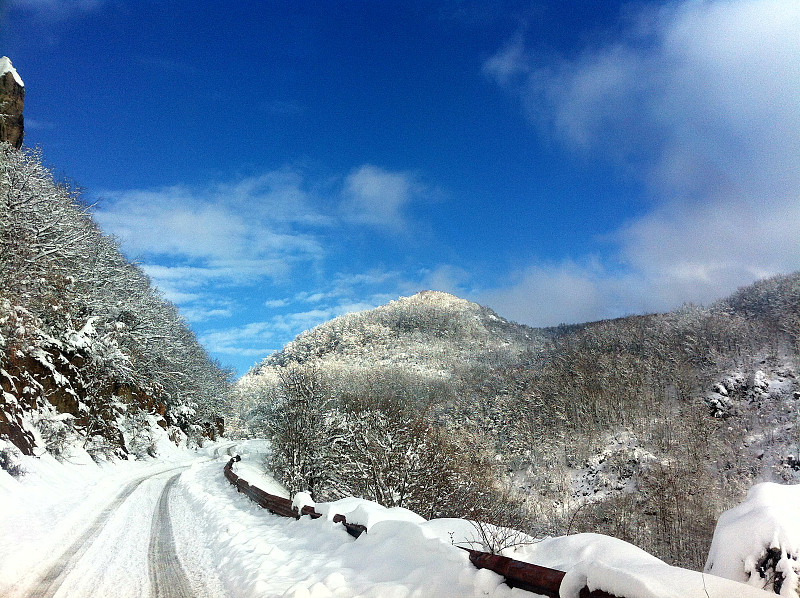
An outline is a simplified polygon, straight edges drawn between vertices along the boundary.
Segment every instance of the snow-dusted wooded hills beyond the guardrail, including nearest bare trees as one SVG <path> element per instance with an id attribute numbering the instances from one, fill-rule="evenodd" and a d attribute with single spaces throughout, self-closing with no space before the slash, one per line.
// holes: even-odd
<path id="1" fill-rule="evenodd" d="M 238 384 L 292 490 L 700 568 L 756 481 L 800 481 L 800 274 L 710 307 L 552 329 L 424 292 L 301 334 Z"/>

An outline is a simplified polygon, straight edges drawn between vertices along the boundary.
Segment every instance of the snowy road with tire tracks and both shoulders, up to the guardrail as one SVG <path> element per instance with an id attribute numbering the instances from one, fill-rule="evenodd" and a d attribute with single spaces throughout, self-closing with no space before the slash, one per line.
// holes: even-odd
<path id="1" fill-rule="evenodd" d="M 532 596 L 416 524 L 356 542 L 331 521 L 270 515 L 222 475 L 231 446 L 102 467 L 29 460 L 21 483 L 0 476 L 0 596 Z M 261 461 L 253 449 L 240 473 L 285 492 Z"/>

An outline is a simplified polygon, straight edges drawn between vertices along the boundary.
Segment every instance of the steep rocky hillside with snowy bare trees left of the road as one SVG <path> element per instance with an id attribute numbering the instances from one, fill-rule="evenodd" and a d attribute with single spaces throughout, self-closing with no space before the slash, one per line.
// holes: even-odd
<path id="1" fill-rule="evenodd" d="M 175 306 L 37 152 L 0 144 L 0 177 L 0 443 L 104 458 L 152 453 L 155 425 L 217 434 L 230 374 Z"/>

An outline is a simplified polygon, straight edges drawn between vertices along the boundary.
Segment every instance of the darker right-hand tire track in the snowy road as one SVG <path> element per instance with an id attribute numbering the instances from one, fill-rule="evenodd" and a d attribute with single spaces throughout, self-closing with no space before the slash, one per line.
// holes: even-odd
<path id="1" fill-rule="evenodd" d="M 150 571 L 150 592 L 155 598 L 193 598 L 194 596 L 189 578 L 175 551 L 175 538 L 169 518 L 169 493 L 180 475 L 180 473 L 176 473 L 167 480 L 153 513 L 147 563 Z"/>

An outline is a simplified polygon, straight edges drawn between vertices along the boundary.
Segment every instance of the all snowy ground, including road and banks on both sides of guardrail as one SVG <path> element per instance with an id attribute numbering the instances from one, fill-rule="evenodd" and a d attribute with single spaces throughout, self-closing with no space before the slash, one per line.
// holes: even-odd
<path id="1" fill-rule="evenodd" d="M 75 452 L 71 463 L 23 459 L 19 479 L 0 470 L 0 596 L 533 596 L 470 564 L 458 547 L 478 537 L 470 522 L 428 522 L 358 499 L 316 505 L 327 515 L 316 520 L 281 518 L 222 475 L 235 451 L 238 475 L 288 496 L 263 473 L 263 441 L 159 448 L 152 461 L 100 466 Z M 331 521 L 335 513 L 368 533 L 350 537 Z M 584 586 L 625 598 L 770 595 L 596 534 L 507 556 L 567 571 L 564 598 Z"/>

